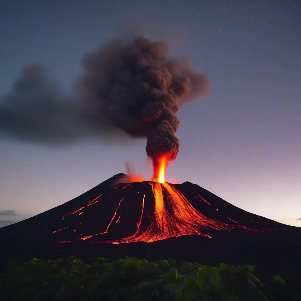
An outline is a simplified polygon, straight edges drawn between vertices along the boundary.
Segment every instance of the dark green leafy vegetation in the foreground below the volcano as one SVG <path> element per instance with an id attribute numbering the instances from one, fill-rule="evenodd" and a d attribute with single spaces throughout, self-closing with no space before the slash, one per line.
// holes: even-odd
<path id="1" fill-rule="evenodd" d="M 23 265 L 8 262 L 1 275 L 1 300 L 301 300 L 279 275 L 262 284 L 250 265 L 212 267 L 174 259 L 148 262 L 97 258 L 93 265 L 71 256 Z M 300 278 L 299 278 L 300 280 Z M 299 282 L 299 283 L 298 283 Z M 291 281 L 291 283 L 293 283 Z M 300 281 L 293 283 L 295 288 Z"/>

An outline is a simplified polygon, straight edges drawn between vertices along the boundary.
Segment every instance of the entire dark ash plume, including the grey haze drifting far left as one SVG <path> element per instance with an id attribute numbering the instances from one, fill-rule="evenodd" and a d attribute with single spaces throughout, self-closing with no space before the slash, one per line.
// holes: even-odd
<path id="1" fill-rule="evenodd" d="M 0 133 L 37 143 L 64 144 L 85 137 L 146 137 L 156 162 L 174 160 L 179 106 L 209 90 L 207 76 L 167 60 L 167 45 L 138 37 L 114 40 L 82 59 L 76 99 L 62 97 L 39 65 L 22 70 L 11 93 L 0 99 Z"/>

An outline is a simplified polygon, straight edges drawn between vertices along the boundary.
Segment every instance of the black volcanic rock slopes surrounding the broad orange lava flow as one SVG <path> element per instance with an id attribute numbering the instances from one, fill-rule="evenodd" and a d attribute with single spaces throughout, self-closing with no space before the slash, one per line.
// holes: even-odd
<path id="1" fill-rule="evenodd" d="M 288 267 L 300 255 L 300 228 L 248 213 L 190 182 L 167 185 L 179 191 L 189 206 L 209 221 L 208 225 L 193 225 L 207 236 L 182 235 L 152 243 L 106 243 L 131 237 L 138 228 L 144 231 L 155 220 L 154 182 L 112 187 L 122 176 L 115 175 L 61 206 L 1 228 L 1 262 L 74 254 L 88 261 L 98 256 L 111 260 L 125 256 L 148 260 L 173 257 L 211 265 L 269 262 L 273 267 L 272 261 L 281 256 L 283 267 Z M 167 208 L 171 196 L 164 187 L 162 193 Z M 176 215 L 171 207 L 168 210 Z M 219 227 L 215 228 L 215 224 Z M 62 241 L 65 243 L 57 243 Z"/>

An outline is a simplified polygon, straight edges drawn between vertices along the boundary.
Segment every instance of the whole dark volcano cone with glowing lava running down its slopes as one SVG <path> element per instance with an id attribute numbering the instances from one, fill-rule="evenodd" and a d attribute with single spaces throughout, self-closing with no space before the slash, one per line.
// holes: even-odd
<path id="1" fill-rule="evenodd" d="M 296 250 L 301 241 L 300 228 L 246 212 L 196 184 L 119 183 L 125 176 L 115 175 L 67 203 L 1 228 L 2 261 L 73 254 L 200 261 L 202 252 L 233 259 L 246 245 L 249 253 L 259 247 L 259 256 L 267 246 L 274 253 L 283 254 L 289 245 Z"/>

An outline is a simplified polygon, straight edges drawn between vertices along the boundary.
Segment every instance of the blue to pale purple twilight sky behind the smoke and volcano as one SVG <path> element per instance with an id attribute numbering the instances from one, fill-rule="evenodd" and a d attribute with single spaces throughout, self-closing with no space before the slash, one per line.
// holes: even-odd
<path id="1" fill-rule="evenodd" d="M 81 58 L 125 32 L 167 42 L 171 57 L 191 58 L 209 76 L 212 91 L 180 108 L 180 152 L 166 180 L 301 227 L 300 15 L 293 0 L 0 0 L 0 95 L 30 63 L 50 67 L 72 93 Z M 0 137 L 0 226 L 125 172 L 127 160 L 149 179 L 145 144 L 54 148 Z"/>

